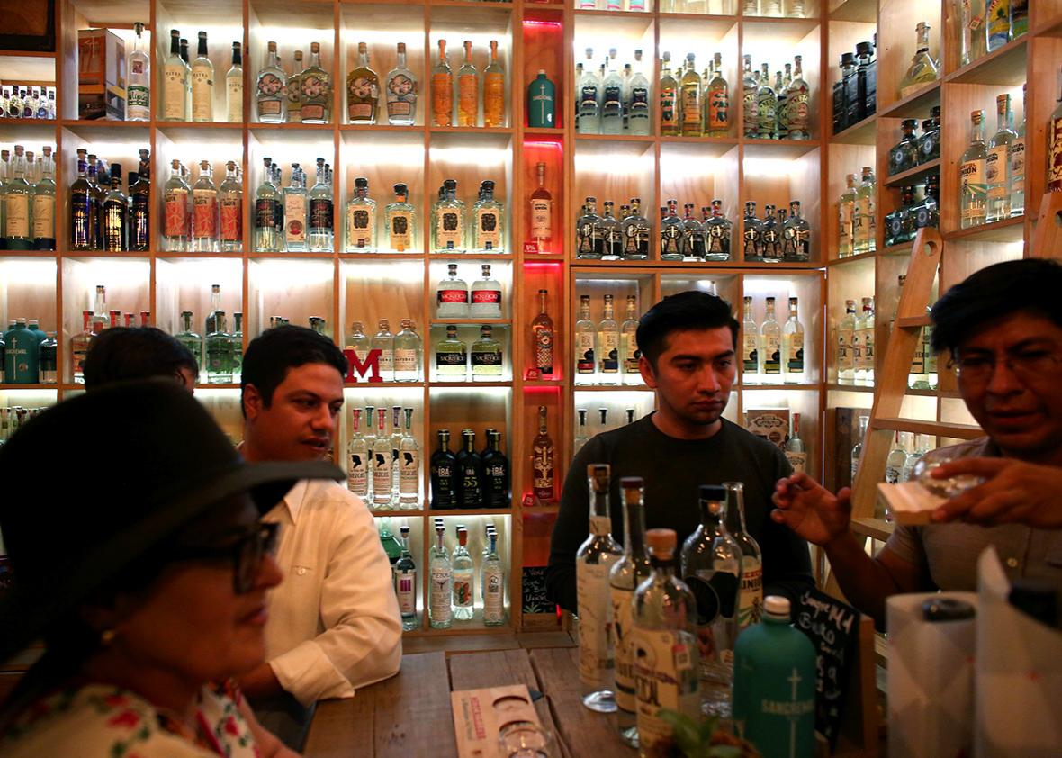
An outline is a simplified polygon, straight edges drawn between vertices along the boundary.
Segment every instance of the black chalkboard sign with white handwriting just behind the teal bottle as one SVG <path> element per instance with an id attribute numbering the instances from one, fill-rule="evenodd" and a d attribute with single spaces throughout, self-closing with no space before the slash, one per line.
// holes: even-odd
<path id="1" fill-rule="evenodd" d="M 815 728 L 837 747 L 841 716 L 859 638 L 859 611 L 818 590 L 805 591 L 793 610 L 793 626 L 806 634 L 818 653 Z"/>

